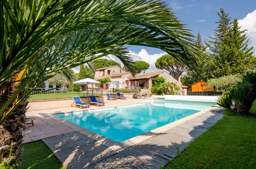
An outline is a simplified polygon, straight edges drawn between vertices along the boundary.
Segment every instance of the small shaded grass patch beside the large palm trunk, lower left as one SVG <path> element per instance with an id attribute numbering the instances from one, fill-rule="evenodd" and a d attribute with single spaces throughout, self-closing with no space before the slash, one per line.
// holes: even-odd
<path id="1" fill-rule="evenodd" d="M 43 141 L 24 145 L 22 164 L 18 168 L 65 168 Z"/>

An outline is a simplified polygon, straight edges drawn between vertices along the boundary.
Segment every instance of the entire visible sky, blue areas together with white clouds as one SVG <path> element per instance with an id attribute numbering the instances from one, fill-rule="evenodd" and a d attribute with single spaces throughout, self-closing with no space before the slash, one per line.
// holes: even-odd
<path id="1" fill-rule="evenodd" d="M 256 53 L 256 0 L 166 0 L 166 4 L 176 16 L 181 20 L 182 24 L 186 24 L 193 35 L 201 34 L 203 40 L 209 39 L 208 36 L 213 35 L 219 17 L 217 11 L 223 8 L 233 20 L 239 19 L 239 25 L 242 29 L 247 29 L 247 36 L 250 39 L 250 46 L 254 47 Z M 134 61 L 143 60 L 150 64 L 146 72 L 157 71 L 154 63 L 157 58 L 166 54 L 157 48 L 149 48 L 143 46 L 127 46 Z M 120 62 L 115 57 L 111 59 Z M 79 68 L 73 69 L 76 73 Z"/>

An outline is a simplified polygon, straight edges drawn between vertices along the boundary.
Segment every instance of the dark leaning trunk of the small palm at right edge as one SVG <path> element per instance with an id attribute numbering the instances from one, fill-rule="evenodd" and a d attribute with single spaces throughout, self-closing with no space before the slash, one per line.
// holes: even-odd
<path id="1" fill-rule="evenodd" d="M 256 85 L 252 85 L 246 98 L 245 98 L 245 101 L 244 101 L 245 109 L 243 109 L 243 112 L 241 112 L 242 114 L 249 113 L 252 103 L 255 100 L 255 98 L 256 98 Z"/>

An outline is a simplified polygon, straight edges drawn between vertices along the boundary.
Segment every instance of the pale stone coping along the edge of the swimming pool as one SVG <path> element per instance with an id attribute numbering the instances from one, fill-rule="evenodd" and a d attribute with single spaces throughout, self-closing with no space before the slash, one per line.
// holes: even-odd
<path id="1" fill-rule="evenodd" d="M 151 100 L 145 100 L 145 101 L 141 101 L 141 102 L 148 102 L 148 101 L 151 101 Z M 134 104 L 141 104 L 141 103 L 134 103 Z M 131 105 L 131 104 L 128 104 L 128 105 Z M 112 107 L 116 107 L 116 105 L 108 107 L 108 108 L 112 108 Z M 98 109 L 94 109 L 94 110 L 100 110 L 100 109 L 105 109 L 105 108 L 103 107 L 103 108 L 98 108 Z M 171 123 L 165 124 L 163 126 L 160 126 L 159 128 L 153 129 L 153 130 L 151 130 L 147 133 L 141 134 L 139 136 L 132 137 L 132 138 L 130 138 L 128 140 L 125 140 L 125 141 L 122 141 L 122 142 L 117 142 L 117 141 L 111 140 L 111 139 L 109 139 L 105 136 L 102 136 L 102 135 L 98 134 L 98 133 L 95 133 L 95 132 L 92 132 L 88 129 L 85 129 L 82 126 L 79 126 L 75 123 L 72 123 L 72 122 L 67 121 L 63 118 L 55 116 L 55 114 L 60 114 L 60 113 L 49 114 L 49 117 L 51 117 L 52 119 L 54 119 L 54 120 L 56 120 L 56 121 L 58 121 L 58 122 L 60 122 L 64 125 L 69 126 L 70 128 L 72 128 L 73 130 L 75 130 L 77 132 L 80 132 L 80 133 L 86 135 L 87 137 L 96 141 L 96 143 L 103 144 L 106 147 L 109 147 L 110 149 L 114 149 L 116 151 L 122 151 L 122 150 L 124 150 L 124 149 L 126 149 L 130 146 L 133 146 L 134 144 L 140 143 L 140 142 L 142 142 L 146 139 L 149 139 L 153 136 L 159 135 L 159 134 L 161 134 L 161 133 L 163 133 L 163 132 L 165 132 L 165 131 L 167 131 L 171 128 L 174 128 L 175 126 L 177 126 L 179 124 L 182 124 L 182 123 L 184 123 L 188 120 L 191 120 L 195 117 L 198 117 L 198 116 L 200 116 L 204 113 L 207 113 L 209 111 L 212 111 L 214 109 L 218 109 L 218 108 L 210 107 L 208 109 L 202 110 L 200 112 L 194 113 L 194 114 L 189 115 L 187 117 L 184 117 L 182 119 L 179 119 L 179 120 L 173 121 Z M 81 110 L 72 111 L 72 112 L 78 112 L 78 111 L 81 111 Z M 65 112 L 65 113 L 71 113 L 71 112 Z"/>

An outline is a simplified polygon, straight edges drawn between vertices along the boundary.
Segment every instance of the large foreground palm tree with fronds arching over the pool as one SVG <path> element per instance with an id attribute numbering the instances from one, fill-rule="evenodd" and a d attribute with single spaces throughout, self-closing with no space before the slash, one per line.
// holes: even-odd
<path id="1" fill-rule="evenodd" d="M 10 163 L 21 156 L 29 94 L 57 73 L 109 54 L 133 72 L 125 45 L 160 48 L 191 69 L 201 55 L 160 1 L 3 0 L 0 23 L 0 129 L 15 142 Z"/>

